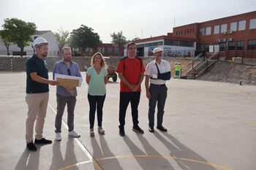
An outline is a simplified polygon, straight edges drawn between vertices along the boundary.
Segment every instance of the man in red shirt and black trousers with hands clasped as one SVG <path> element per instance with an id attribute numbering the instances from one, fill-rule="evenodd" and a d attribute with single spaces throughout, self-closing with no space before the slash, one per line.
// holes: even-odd
<path id="1" fill-rule="evenodd" d="M 140 103 L 140 84 L 143 81 L 145 67 L 143 60 L 136 57 L 136 44 L 129 42 L 127 45 L 127 57 L 122 58 L 117 67 L 120 78 L 120 101 L 119 101 L 119 134 L 124 136 L 125 115 L 129 102 L 132 107 L 132 130 L 143 134 L 139 127 L 138 105 Z"/>

